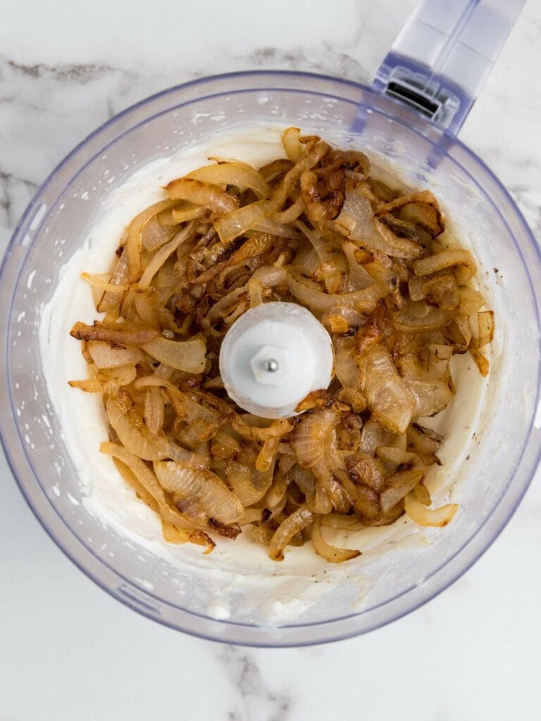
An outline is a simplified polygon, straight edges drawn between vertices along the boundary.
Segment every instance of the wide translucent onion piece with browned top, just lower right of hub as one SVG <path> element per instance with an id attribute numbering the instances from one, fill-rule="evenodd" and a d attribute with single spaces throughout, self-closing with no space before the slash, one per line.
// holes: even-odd
<path id="1" fill-rule="evenodd" d="M 384 428 L 405 433 L 415 410 L 415 397 L 400 378 L 388 350 L 373 345 L 359 356 L 361 390 Z"/>

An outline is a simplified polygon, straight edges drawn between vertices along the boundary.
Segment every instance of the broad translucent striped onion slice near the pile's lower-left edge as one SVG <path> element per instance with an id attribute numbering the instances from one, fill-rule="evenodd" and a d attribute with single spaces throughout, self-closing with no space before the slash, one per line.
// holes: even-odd
<path id="1" fill-rule="evenodd" d="M 237 496 L 211 471 L 188 468 L 174 461 L 161 461 L 154 464 L 154 472 L 164 490 L 193 498 L 209 518 L 216 518 L 221 523 L 234 523 L 244 515 Z"/>

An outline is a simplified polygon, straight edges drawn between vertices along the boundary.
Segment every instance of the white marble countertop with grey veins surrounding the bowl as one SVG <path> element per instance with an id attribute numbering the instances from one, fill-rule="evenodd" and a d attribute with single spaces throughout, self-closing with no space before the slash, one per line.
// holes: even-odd
<path id="1" fill-rule="evenodd" d="M 413 5 L 4 0 L 1 248 L 36 185 L 123 107 L 242 68 L 369 81 Z M 530 0 L 461 133 L 538 235 L 540 32 Z M 541 718 L 540 479 L 475 567 L 414 614 L 327 647 L 247 650 L 159 627 L 102 593 L 48 539 L 1 464 L 1 721 Z"/>

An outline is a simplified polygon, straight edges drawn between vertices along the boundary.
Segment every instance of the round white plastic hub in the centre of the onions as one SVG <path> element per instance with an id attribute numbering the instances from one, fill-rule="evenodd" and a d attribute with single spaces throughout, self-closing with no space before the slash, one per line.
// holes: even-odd
<path id="1" fill-rule="evenodd" d="M 322 324 L 294 303 L 265 303 L 242 315 L 221 344 L 220 373 L 229 397 L 264 418 L 296 415 L 333 375 L 333 344 Z"/>

